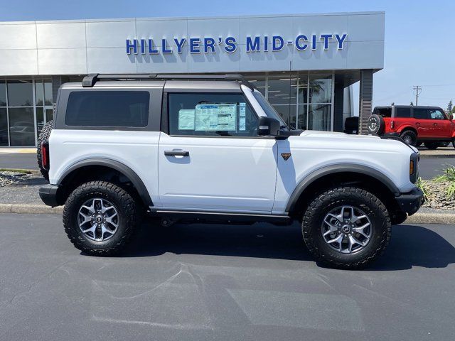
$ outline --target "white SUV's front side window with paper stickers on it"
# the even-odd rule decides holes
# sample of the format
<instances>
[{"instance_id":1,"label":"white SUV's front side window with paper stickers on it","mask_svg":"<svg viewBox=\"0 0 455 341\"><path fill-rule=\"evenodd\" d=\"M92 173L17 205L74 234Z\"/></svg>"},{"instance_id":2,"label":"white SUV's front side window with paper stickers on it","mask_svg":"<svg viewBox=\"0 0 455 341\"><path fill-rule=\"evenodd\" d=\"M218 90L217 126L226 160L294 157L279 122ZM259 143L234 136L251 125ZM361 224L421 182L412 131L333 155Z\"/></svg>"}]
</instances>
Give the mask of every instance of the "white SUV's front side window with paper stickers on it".
<instances>
[{"instance_id":1,"label":"white SUV's front side window with paper stickers on it","mask_svg":"<svg viewBox=\"0 0 455 341\"><path fill-rule=\"evenodd\" d=\"M257 136L258 119L242 94L168 94L169 134Z\"/></svg>"}]
</instances>

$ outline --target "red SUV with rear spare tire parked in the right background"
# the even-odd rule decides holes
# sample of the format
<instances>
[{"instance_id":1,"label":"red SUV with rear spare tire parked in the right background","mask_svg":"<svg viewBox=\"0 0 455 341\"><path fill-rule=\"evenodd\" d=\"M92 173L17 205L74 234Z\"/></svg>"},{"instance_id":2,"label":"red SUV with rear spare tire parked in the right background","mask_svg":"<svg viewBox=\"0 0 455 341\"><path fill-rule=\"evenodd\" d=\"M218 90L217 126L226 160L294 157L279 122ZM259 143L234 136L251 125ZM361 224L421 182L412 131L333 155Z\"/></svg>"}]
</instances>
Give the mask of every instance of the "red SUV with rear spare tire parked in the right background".
<instances>
[{"instance_id":1,"label":"red SUV with rear spare tire parked in the right background","mask_svg":"<svg viewBox=\"0 0 455 341\"><path fill-rule=\"evenodd\" d=\"M392 105L375 107L368 119L368 132L375 135L400 136L411 146L436 149L444 142L455 148L455 122L439 107Z\"/></svg>"}]
</instances>

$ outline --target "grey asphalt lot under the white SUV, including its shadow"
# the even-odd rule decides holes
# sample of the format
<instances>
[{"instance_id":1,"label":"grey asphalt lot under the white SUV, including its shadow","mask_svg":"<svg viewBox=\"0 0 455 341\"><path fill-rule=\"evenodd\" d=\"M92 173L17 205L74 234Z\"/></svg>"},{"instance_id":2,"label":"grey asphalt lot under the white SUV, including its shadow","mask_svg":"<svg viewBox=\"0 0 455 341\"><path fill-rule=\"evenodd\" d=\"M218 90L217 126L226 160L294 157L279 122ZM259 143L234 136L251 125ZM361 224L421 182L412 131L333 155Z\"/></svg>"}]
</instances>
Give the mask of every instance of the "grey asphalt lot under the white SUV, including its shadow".
<instances>
[{"instance_id":1,"label":"grey asphalt lot under the white SUV, including its shadow","mask_svg":"<svg viewBox=\"0 0 455 341\"><path fill-rule=\"evenodd\" d=\"M0 215L0 340L453 340L455 227L400 225L364 271L326 269L299 226L144 226L80 254L60 215Z\"/></svg>"}]
</instances>

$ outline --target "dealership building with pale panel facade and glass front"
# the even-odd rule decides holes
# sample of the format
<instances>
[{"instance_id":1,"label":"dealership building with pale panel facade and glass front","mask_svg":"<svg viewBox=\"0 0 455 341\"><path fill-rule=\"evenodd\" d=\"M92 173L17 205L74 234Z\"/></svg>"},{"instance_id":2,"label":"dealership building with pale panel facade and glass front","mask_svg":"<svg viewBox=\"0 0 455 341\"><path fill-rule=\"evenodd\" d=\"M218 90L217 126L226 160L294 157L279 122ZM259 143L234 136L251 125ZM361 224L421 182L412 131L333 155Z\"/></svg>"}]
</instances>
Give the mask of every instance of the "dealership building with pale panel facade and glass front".
<instances>
[{"instance_id":1,"label":"dealership building with pale panel facade and glass front","mask_svg":"<svg viewBox=\"0 0 455 341\"><path fill-rule=\"evenodd\" d=\"M88 73L240 73L299 129L343 131L358 101L365 133L384 22L384 12L0 22L0 146L35 146L58 87Z\"/></svg>"}]
</instances>

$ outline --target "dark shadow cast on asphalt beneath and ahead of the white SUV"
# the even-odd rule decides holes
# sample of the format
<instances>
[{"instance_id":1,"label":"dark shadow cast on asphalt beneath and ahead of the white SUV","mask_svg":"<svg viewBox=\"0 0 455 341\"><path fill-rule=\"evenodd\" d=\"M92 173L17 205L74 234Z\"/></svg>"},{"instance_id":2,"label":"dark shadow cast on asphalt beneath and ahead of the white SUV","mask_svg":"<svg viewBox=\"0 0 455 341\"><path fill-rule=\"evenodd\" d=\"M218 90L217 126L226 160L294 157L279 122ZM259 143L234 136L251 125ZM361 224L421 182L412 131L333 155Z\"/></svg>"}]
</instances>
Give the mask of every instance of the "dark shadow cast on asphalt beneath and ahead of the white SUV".
<instances>
[{"instance_id":1,"label":"dark shadow cast on asphalt beneath and ahead of the white SUV","mask_svg":"<svg viewBox=\"0 0 455 341\"><path fill-rule=\"evenodd\" d=\"M299 224L176 224L161 227L144 224L141 232L121 256L146 257L174 254L207 254L271 259L314 261L304 246ZM425 227L392 227L385 254L367 271L395 271L412 266L444 268L455 263L455 248L437 232ZM323 264L318 266L326 267Z\"/></svg>"}]
</instances>

